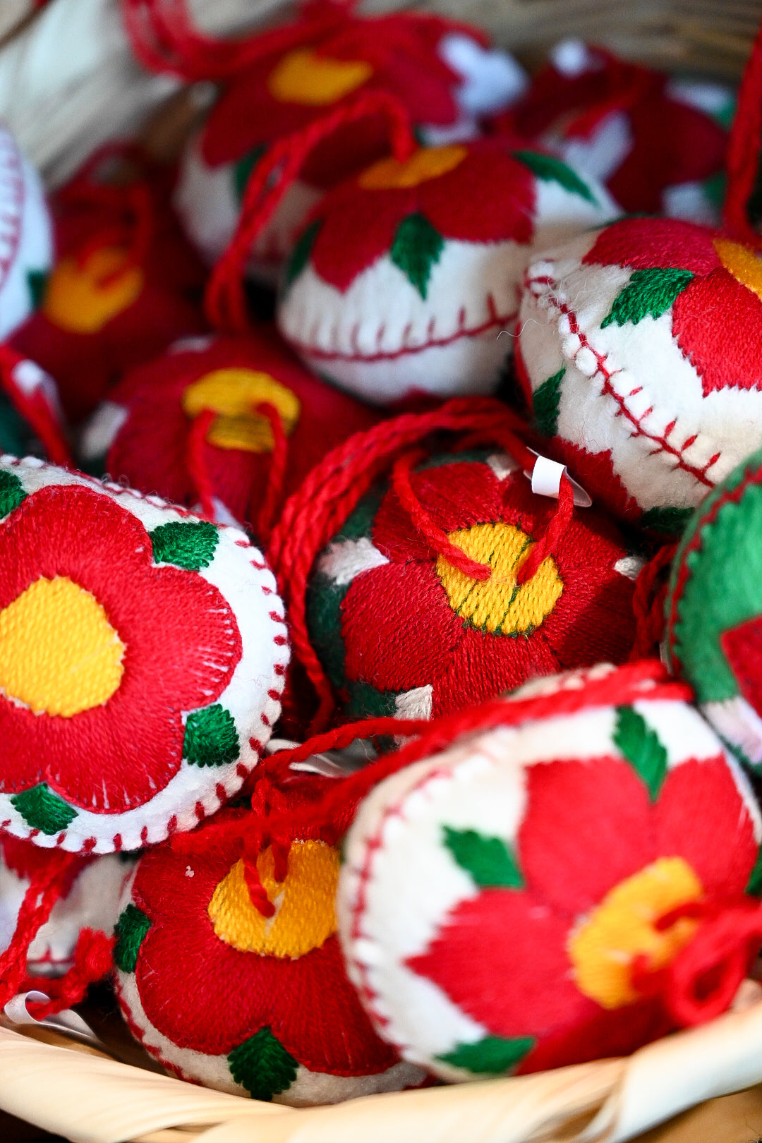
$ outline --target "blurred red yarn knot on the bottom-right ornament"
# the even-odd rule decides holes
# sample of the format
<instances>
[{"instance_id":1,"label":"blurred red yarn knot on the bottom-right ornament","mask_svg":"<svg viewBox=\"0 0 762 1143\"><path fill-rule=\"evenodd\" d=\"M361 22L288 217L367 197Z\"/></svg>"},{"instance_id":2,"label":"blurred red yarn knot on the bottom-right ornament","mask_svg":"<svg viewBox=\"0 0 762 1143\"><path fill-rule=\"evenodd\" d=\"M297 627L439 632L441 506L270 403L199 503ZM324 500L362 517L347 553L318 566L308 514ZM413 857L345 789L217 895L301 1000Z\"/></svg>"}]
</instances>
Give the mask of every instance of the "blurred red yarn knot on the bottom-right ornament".
<instances>
[{"instance_id":1,"label":"blurred red yarn knot on the bottom-right ornament","mask_svg":"<svg viewBox=\"0 0 762 1143\"><path fill-rule=\"evenodd\" d=\"M636 958L632 981L641 994L660 996L677 1025L691 1028L730 1007L762 946L762 903L748 897L689 902L655 927L664 932L683 918L699 922L690 942L656 972L649 972L647 957Z\"/></svg>"}]
</instances>

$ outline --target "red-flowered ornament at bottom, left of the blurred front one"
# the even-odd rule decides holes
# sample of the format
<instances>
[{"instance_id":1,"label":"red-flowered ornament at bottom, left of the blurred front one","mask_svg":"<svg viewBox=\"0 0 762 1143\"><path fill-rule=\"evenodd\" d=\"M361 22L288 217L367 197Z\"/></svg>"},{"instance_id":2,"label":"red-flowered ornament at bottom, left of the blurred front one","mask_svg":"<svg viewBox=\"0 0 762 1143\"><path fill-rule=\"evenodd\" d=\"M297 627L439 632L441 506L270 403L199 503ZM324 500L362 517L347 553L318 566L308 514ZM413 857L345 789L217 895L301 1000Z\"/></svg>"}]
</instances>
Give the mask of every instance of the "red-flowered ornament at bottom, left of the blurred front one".
<instances>
[{"instance_id":1,"label":"red-flowered ornament at bottom, left of the blurred front one","mask_svg":"<svg viewBox=\"0 0 762 1143\"><path fill-rule=\"evenodd\" d=\"M420 1084L346 978L337 849L310 838L267 848L254 881L240 850L212 837L202 852L162 847L141 861L115 949L133 1034L181 1078L256 1100L336 1103ZM265 892L265 914L251 884Z\"/></svg>"}]
</instances>

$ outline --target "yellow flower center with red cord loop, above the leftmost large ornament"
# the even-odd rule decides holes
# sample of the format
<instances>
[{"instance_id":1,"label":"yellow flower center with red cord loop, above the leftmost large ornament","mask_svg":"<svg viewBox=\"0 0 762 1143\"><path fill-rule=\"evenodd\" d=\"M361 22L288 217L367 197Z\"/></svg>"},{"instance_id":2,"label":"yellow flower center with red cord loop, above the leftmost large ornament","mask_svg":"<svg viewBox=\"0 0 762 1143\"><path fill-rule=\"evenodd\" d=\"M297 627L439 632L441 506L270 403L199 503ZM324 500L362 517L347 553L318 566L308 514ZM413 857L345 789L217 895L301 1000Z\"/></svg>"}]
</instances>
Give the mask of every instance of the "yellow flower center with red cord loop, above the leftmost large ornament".
<instances>
[{"instance_id":1,"label":"yellow flower center with red cord loop, above the leftmost large ornament","mask_svg":"<svg viewBox=\"0 0 762 1143\"><path fill-rule=\"evenodd\" d=\"M262 401L275 407L287 435L294 432L300 411L298 398L268 373L215 369L183 393L183 408L190 417L196 417L203 409L218 414L207 438L210 445L244 453L273 450L272 425L256 411Z\"/></svg>"}]
</instances>

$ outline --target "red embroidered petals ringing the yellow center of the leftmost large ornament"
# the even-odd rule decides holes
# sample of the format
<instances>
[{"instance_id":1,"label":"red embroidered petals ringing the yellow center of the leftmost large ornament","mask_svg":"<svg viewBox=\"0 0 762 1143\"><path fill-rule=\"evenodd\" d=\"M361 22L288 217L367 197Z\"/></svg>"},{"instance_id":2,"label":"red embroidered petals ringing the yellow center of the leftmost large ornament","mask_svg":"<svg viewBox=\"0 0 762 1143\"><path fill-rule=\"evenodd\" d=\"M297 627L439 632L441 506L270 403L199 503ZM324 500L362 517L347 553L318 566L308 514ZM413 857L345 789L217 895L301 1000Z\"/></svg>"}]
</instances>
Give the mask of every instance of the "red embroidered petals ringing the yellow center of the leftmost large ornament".
<instances>
[{"instance_id":1,"label":"red embroidered petals ringing the yellow center of the leftmost large ornament","mask_svg":"<svg viewBox=\"0 0 762 1143\"><path fill-rule=\"evenodd\" d=\"M0 694L0 790L45 782L111 814L149 801L181 767L183 712L214 703L241 657L228 604L194 572L158 567L142 522L80 486L43 487L10 512L0 568L0 615L35 583L69 581L123 645L118 686L98 705L62 716Z\"/></svg>"}]
</instances>

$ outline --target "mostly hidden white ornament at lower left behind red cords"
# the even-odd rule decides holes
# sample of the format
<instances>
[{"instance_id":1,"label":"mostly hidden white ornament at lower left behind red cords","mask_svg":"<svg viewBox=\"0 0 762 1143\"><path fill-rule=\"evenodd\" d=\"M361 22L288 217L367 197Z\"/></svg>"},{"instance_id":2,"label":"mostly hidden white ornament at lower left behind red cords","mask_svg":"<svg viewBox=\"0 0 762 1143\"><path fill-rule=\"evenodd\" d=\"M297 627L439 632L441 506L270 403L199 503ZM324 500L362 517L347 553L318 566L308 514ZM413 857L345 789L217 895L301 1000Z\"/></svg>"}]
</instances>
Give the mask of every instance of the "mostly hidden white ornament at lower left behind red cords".
<instances>
[{"instance_id":1,"label":"mostly hidden white ornament at lower left behind red cords","mask_svg":"<svg viewBox=\"0 0 762 1143\"><path fill-rule=\"evenodd\" d=\"M34 873L49 862L49 852L33 841L0 834L0 951L7 948L24 894ZM127 854L78 857L70 882L27 954L29 973L61 976L74 964L83 928L111 934L119 916L119 897L134 858Z\"/></svg>"}]
</instances>

